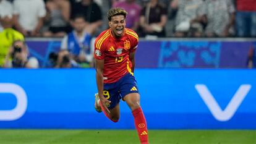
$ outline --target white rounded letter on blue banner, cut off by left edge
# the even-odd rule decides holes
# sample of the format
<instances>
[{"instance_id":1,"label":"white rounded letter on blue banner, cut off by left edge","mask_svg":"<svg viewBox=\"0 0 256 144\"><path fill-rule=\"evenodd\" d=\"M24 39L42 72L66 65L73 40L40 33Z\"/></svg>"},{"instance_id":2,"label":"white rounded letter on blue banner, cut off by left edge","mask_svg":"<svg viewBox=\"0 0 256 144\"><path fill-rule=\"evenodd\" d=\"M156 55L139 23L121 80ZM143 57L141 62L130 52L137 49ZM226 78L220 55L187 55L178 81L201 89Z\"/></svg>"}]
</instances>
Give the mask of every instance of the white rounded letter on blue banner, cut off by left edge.
<instances>
[{"instance_id":1,"label":"white rounded letter on blue banner, cut off by left edge","mask_svg":"<svg viewBox=\"0 0 256 144\"><path fill-rule=\"evenodd\" d=\"M17 98L14 109L0 110L0 121L14 121L22 117L27 110L27 95L23 88L14 83L0 83L0 93L11 93Z\"/></svg>"}]
</instances>

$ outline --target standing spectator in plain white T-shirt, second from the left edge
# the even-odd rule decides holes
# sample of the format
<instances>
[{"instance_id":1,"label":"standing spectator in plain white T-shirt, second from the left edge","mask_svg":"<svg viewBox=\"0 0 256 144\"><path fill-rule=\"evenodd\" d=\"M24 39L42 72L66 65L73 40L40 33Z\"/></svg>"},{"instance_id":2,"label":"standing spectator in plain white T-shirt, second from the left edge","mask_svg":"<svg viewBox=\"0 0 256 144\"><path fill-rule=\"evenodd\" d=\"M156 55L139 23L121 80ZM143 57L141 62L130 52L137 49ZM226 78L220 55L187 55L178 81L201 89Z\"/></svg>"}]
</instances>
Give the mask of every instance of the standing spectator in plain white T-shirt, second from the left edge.
<instances>
[{"instance_id":1,"label":"standing spectator in plain white T-shirt, second from the left edge","mask_svg":"<svg viewBox=\"0 0 256 144\"><path fill-rule=\"evenodd\" d=\"M40 36L43 18L46 15L43 0L15 0L15 28L25 36Z\"/></svg>"}]
</instances>

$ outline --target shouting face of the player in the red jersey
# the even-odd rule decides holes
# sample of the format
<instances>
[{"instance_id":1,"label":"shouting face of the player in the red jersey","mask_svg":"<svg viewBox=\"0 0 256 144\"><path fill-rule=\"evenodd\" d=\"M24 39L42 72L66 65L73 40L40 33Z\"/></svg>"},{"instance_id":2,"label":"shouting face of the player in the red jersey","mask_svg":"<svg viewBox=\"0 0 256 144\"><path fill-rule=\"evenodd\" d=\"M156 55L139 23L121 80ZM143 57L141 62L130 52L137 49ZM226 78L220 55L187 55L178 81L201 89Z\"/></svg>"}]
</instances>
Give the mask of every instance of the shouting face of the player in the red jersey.
<instances>
[{"instance_id":1,"label":"shouting face of the player in the red jersey","mask_svg":"<svg viewBox=\"0 0 256 144\"><path fill-rule=\"evenodd\" d=\"M124 35L124 28L126 27L126 19L124 18L124 15L115 15L111 17L109 27L116 38L120 38Z\"/></svg>"}]
</instances>

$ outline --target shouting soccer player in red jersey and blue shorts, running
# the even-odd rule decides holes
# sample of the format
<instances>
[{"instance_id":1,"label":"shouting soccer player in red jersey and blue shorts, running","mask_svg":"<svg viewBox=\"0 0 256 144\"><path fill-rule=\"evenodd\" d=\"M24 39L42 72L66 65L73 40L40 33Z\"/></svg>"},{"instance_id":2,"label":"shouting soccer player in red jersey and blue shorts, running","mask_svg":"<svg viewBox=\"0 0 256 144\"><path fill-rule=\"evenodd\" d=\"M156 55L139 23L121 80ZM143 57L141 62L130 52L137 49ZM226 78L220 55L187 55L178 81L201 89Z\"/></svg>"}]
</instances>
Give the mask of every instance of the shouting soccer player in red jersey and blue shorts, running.
<instances>
[{"instance_id":1,"label":"shouting soccer player in red jersey and blue shorts, running","mask_svg":"<svg viewBox=\"0 0 256 144\"><path fill-rule=\"evenodd\" d=\"M140 143L148 144L147 123L140 108L140 95L134 77L138 35L126 28L127 12L121 8L108 11L109 29L95 40L96 83L95 109L111 121L120 117L119 101L126 101L134 116Z\"/></svg>"}]
</instances>

